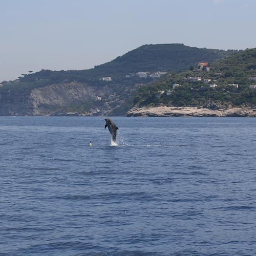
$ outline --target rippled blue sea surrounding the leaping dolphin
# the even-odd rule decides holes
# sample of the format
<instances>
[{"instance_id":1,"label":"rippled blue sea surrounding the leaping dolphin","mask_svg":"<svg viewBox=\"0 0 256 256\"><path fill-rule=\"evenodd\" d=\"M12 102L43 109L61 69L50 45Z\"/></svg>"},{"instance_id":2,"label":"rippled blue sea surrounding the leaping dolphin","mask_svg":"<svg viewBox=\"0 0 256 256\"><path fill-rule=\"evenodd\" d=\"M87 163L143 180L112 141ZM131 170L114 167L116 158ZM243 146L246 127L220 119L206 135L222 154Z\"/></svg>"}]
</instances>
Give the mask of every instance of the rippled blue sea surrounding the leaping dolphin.
<instances>
[{"instance_id":1,"label":"rippled blue sea surrounding the leaping dolphin","mask_svg":"<svg viewBox=\"0 0 256 256\"><path fill-rule=\"evenodd\" d=\"M256 118L110 118L0 117L1 256L256 255Z\"/></svg>"}]
</instances>

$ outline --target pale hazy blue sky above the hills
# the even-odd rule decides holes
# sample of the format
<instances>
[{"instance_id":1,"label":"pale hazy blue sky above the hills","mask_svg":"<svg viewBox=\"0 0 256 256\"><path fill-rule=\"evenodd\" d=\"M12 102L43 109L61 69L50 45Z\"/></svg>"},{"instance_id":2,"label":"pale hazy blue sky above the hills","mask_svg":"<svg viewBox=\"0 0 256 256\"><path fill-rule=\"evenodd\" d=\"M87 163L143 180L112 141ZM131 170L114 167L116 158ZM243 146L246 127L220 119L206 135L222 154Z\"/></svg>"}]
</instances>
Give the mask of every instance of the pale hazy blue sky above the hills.
<instances>
[{"instance_id":1,"label":"pale hazy blue sky above the hills","mask_svg":"<svg viewBox=\"0 0 256 256\"><path fill-rule=\"evenodd\" d=\"M256 0L0 0L0 82L93 68L145 44L256 47Z\"/></svg>"}]
</instances>

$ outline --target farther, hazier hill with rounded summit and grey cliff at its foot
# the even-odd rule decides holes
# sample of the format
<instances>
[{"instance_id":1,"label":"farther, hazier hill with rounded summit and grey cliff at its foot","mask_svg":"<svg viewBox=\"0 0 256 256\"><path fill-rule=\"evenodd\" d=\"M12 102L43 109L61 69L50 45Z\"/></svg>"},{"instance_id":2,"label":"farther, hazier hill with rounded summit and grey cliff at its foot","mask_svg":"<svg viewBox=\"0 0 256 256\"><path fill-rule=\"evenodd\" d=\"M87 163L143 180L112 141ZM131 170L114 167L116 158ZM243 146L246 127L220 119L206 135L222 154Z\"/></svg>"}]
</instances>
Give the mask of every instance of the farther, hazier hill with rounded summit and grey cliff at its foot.
<instances>
[{"instance_id":1,"label":"farther, hazier hill with rounded summit and grey cliff at its foot","mask_svg":"<svg viewBox=\"0 0 256 256\"><path fill-rule=\"evenodd\" d=\"M145 45L90 70L29 72L1 83L0 115L124 115L139 87L167 72L233 53L183 44ZM39 92L40 97L34 97Z\"/></svg>"}]
</instances>

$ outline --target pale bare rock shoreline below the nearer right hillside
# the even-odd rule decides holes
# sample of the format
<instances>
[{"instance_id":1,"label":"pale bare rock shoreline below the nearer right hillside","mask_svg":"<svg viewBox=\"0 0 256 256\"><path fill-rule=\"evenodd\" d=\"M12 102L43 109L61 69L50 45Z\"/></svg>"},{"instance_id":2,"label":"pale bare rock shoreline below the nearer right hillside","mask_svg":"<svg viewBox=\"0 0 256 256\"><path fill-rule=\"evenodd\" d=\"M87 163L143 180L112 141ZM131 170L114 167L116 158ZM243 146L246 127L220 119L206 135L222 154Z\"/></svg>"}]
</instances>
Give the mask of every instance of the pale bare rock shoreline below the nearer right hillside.
<instances>
[{"instance_id":1,"label":"pale bare rock shoreline below the nearer right hillside","mask_svg":"<svg viewBox=\"0 0 256 256\"><path fill-rule=\"evenodd\" d=\"M256 117L256 109L232 108L226 110L210 110L205 108L191 108L179 106L156 106L134 108L126 116L208 116L208 117Z\"/></svg>"}]
</instances>

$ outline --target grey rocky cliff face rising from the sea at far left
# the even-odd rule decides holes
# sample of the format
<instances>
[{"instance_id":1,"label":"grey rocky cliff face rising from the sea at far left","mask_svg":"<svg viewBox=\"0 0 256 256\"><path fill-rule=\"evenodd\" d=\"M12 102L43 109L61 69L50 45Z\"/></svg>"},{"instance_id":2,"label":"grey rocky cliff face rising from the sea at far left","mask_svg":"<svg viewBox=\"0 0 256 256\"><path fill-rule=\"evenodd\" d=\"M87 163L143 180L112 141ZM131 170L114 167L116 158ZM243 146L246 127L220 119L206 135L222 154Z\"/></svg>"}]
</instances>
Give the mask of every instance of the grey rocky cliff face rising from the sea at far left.
<instances>
[{"instance_id":1,"label":"grey rocky cliff face rising from the sea at far left","mask_svg":"<svg viewBox=\"0 0 256 256\"><path fill-rule=\"evenodd\" d=\"M0 115L47 116L63 108L94 102L110 93L108 88L97 88L78 82L53 84L33 89L22 95L1 95ZM90 111L89 111L90 112Z\"/></svg>"}]
</instances>

